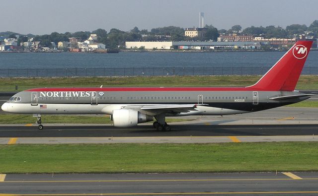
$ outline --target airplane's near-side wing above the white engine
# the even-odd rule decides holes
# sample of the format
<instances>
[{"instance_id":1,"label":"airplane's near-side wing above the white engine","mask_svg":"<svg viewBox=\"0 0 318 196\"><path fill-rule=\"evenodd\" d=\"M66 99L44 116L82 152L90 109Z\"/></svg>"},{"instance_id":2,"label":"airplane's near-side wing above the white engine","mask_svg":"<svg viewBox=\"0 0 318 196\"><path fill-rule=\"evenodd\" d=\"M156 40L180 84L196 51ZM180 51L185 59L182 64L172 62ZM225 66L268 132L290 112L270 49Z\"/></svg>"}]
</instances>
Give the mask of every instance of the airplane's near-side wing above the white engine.
<instances>
[{"instance_id":1,"label":"airplane's near-side wing above the white engine","mask_svg":"<svg viewBox=\"0 0 318 196\"><path fill-rule=\"evenodd\" d=\"M160 114L160 113L166 113L166 112L181 113L181 112L196 111L197 105L198 104L128 105L128 106L124 106L123 108L139 110L141 112L143 111L151 112L153 114Z\"/></svg>"}]
</instances>

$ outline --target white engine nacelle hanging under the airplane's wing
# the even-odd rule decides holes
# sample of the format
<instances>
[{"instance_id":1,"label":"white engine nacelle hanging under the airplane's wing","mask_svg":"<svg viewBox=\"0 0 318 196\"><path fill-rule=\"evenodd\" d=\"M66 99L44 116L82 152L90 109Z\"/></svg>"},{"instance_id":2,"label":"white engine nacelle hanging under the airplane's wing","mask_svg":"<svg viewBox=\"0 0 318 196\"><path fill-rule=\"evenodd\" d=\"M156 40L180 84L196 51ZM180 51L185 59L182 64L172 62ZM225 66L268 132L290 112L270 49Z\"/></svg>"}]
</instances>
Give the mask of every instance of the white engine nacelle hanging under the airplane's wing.
<instances>
[{"instance_id":1,"label":"white engine nacelle hanging under the airplane's wing","mask_svg":"<svg viewBox=\"0 0 318 196\"><path fill-rule=\"evenodd\" d=\"M113 110L113 122L115 127L134 127L138 123L153 121L154 117L140 113L136 110L119 109Z\"/></svg>"}]
</instances>

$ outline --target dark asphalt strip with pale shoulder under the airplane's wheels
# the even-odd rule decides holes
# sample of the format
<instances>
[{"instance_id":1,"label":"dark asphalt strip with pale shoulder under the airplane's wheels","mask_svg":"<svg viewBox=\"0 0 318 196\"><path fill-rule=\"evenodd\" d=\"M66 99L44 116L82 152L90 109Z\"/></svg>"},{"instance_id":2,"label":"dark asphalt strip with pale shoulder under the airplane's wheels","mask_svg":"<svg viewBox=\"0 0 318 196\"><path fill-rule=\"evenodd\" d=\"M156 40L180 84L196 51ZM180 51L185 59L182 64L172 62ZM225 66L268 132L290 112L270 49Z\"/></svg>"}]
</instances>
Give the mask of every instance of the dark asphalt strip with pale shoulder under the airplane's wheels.
<instances>
[{"instance_id":1,"label":"dark asphalt strip with pale shoulder under the airplane's wheels","mask_svg":"<svg viewBox=\"0 0 318 196\"><path fill-rule=\"evenodd\" d=\"M152 126L120 129L111 126L0 127L0 144L14 143L215 143L318 141L318 125L174 125L169 132Z\"/></svg>"}]
</instances>

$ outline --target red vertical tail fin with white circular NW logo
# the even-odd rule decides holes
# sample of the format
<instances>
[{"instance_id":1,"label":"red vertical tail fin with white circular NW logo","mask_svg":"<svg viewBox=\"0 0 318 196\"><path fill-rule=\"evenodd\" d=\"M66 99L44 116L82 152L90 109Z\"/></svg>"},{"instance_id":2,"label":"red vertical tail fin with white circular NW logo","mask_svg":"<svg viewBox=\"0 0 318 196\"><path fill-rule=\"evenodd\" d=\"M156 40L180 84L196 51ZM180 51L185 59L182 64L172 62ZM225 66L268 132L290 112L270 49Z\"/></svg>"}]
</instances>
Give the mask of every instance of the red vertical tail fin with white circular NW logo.
<instances>
[{"instance_id":1,"label":"red vertical tail fin with white circular NW logo","mask_svg":"<svg viewBox=\"0 0 318 196\"><path fill-rule=\"evenodd\" d=\"M308 57L312 41L298 41L254 85L264 90L293 91Z\"/></svg>"}]
</instances>

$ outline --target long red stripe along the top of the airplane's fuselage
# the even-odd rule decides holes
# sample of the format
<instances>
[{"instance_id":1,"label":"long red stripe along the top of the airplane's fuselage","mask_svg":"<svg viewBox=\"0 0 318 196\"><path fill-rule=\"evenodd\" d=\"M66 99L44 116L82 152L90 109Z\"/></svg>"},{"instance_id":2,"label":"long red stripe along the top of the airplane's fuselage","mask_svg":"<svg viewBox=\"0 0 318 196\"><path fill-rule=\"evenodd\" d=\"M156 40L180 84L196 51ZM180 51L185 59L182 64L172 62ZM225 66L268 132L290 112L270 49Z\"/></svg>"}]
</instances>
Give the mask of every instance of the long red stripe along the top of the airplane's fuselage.
<instances>
[{"instance_id":1,"label":"long red stripe along the top of the airplane's fuselage","mask_svg":"<svg viewBox=\"0 0 318 196\"><path fill-rule=\"evenodd\" d=\"M26 91L257 91L250 87L73 87L73 88L34 88ZM264 91L264 89L262 89Z\"/></svg>"}]
</instances>

